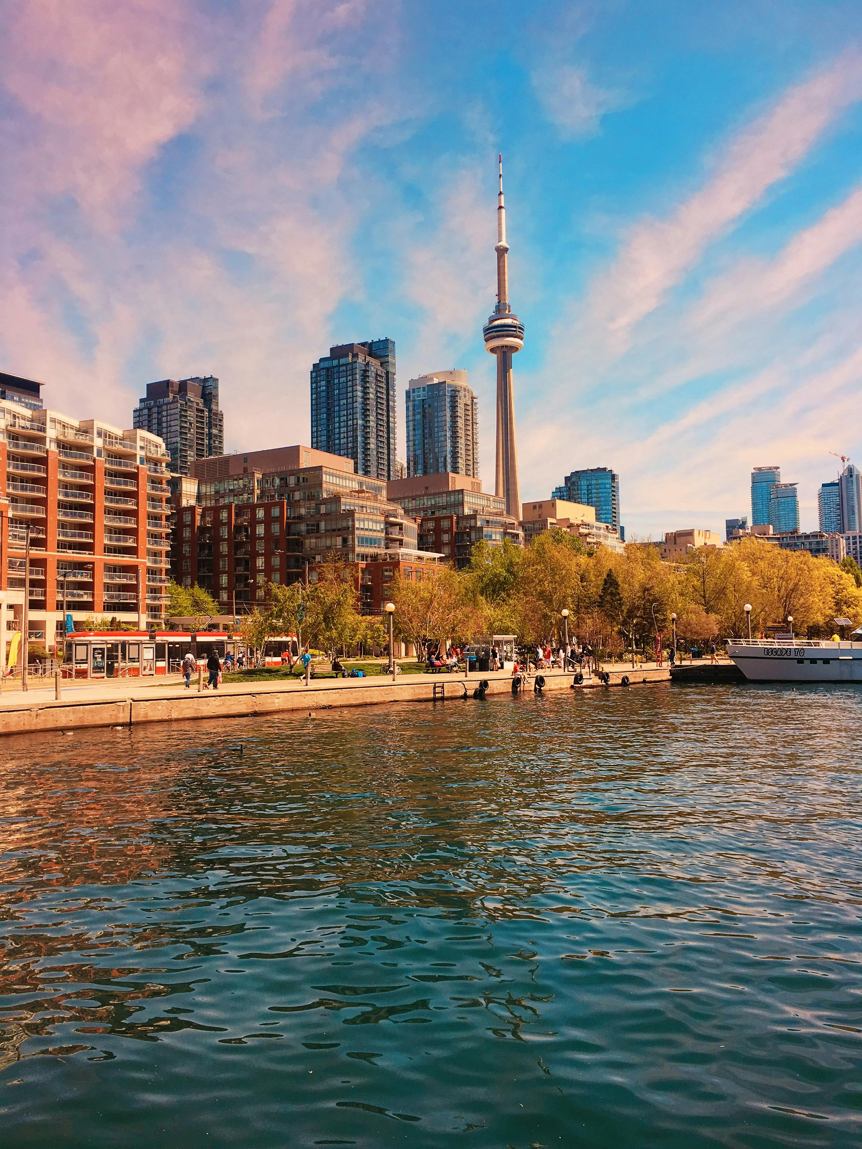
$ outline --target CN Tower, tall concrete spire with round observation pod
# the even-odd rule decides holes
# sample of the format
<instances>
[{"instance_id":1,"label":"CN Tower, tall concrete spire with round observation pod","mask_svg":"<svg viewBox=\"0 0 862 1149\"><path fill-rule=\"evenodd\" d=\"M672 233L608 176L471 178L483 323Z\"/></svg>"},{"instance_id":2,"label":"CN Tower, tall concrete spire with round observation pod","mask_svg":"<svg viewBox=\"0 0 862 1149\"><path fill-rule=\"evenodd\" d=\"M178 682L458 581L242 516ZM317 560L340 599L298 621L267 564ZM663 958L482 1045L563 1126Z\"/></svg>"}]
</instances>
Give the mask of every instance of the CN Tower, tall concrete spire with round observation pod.
<instances>
[{"instance_id":1,"label":"CN Tower, tall concrete spire with round observation pod","mask_svg":"<svg viewBox=\"0 0 862 1149\"><path fill-rule=\"evenodd\" d=\"M524 346L524 325L509 308L509 245L506 242L506 208L502 198L502 156L500 191L497 198L497 306L482 330L485 350L497 355L497 481L494 493L506 500L506 514L521 518L518 456L515 446L515 400L511 385L511 356Z\"/></svg>"}]
</instances>

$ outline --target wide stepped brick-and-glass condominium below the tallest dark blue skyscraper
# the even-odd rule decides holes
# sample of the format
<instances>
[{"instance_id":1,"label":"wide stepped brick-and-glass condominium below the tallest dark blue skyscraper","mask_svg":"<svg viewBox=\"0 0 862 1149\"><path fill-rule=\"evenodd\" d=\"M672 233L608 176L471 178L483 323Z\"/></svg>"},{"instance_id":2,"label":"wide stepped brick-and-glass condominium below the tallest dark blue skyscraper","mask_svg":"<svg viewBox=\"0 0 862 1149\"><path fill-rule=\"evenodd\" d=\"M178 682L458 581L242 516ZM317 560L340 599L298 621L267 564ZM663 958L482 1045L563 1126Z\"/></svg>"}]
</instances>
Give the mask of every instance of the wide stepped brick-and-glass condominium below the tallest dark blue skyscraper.
<instances>
[{"instance_id":1,"label":"wide stepped brick-and-glass condominium below the tallest dark blue skyscraper","mask_svg":"<svg viewBox=\"0 0 862 1149\"><path fill-rule=\"evenodd\" d=\"M309 448L277 450L290 464ZM386 556L391 565L393 555L436 564L438 556L418 554L416 523L386 498L386 484L355 475L351 460L262 470L254 454L225 456L248 458L246 470L199 479L198 506L177 512L176 577L225 610L265 601L268 584L294 583L330 555L361 565ZM208 460L200 469L220 466Z\"/></svg>"}]
</instances>

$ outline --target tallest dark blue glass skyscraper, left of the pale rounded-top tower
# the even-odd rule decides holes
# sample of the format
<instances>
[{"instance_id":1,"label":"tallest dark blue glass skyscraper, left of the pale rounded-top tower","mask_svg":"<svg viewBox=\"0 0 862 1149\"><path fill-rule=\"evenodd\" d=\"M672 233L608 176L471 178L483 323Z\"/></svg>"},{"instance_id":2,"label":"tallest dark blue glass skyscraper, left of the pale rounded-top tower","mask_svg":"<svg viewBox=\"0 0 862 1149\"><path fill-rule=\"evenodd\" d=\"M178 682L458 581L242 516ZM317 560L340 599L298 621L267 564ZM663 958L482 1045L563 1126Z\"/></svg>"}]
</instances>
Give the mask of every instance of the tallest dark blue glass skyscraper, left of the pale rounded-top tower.
<instances>
[{"instance_id":1,"label":"tallest dark blue glass skyscraper, left of the pale rounded-top tower","mask_svg":"<svg viewBox=\"0 0 862 1149\"><path fill-rule=\"evenodd\" d=\"M395 344L330 347L311 368L311 446L352 458L357 475L395 477Z\"/></svg>"}]
</instances>

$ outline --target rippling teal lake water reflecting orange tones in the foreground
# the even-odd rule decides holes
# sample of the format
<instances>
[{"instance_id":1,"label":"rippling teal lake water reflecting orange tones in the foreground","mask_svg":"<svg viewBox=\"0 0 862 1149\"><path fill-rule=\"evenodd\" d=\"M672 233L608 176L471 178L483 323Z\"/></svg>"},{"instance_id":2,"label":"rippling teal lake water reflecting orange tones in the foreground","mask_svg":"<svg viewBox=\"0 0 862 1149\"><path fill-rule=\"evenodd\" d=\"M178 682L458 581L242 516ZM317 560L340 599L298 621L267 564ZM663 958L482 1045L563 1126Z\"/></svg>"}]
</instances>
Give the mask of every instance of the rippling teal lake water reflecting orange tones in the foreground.
<instances>
[{"instance_id":1,"label":"rippling teal lake water reflecting orange tones in the foreground","mask_svg":"<svg viewBox=\"0 0 862 1149\"><path fill-rule=\"evenodd\" d=\"M657 686L7 739L0 1143L862 1144L861 731Z\"/></svg>"}]
</instances>

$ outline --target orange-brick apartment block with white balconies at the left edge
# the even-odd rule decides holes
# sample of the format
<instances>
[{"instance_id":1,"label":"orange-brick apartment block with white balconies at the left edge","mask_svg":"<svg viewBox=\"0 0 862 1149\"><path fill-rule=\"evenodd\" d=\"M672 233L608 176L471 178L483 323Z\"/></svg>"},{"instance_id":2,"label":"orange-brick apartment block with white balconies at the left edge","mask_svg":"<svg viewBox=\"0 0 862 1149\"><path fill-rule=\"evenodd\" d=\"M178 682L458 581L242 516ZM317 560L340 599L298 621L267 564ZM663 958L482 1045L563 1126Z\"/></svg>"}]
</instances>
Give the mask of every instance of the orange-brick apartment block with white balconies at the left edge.
<instances>
[{"instance_id":1,"label":"orange-brick apartment block with white balconies at the left edge","mask_svg":"<svg viewBox=\"0 0 862 1149\"><path fill-rule=\"evenodd\" d=\"M8 377L7 377L8 379ZM0 399L0 634L28 615L28 635L53 650L64 615L163 625L168 454L157 435L34 406L38 383ZM29 550L29 563L26 554Z\"/></svg>"}]
</instances>

